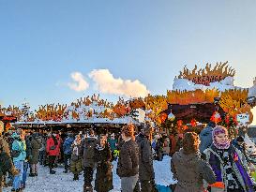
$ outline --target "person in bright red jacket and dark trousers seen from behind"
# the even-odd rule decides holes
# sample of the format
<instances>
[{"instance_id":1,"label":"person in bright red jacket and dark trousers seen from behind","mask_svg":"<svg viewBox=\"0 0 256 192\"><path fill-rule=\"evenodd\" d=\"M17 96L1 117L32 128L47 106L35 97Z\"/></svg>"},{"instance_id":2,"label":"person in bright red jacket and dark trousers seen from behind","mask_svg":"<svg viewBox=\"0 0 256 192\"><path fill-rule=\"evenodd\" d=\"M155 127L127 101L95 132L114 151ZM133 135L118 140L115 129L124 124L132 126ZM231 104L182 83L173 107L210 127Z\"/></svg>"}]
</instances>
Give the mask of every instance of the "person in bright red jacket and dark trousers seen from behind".
<instances>
[{"instance_id":1,"label":"person in bright red jacket and dark trousers seen from behind","mask_svg":"<svg viewBox=\"0 0 256 192\"><path fill-rule=\"evenodd\" d=\"M53 170L56 156L60 154L60 142L55 138L55 134L51 134L50 138L46 141L46 153L49 156L50 174L55 174Z\"/></svg>"}]
</instances>

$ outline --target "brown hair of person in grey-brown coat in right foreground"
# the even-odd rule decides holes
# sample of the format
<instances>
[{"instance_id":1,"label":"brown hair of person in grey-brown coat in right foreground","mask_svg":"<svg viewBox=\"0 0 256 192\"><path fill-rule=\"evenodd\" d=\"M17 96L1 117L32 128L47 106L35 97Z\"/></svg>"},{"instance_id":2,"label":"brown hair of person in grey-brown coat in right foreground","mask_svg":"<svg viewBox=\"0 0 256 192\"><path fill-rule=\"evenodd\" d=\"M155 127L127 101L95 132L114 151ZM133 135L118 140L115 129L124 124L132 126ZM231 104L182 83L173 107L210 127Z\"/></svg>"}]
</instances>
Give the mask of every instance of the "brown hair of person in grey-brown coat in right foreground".
<instances>
[{"instance_id":1,"label":"brown hair of person in grey-brown coat in right foreground","mask_svg":"<svg viewBox=\"0 0 256 192\"><path fill-rule=\"evenodd\" d=\"M183 139L183 150L185 154L193 154L198 152L199 137L195 132L185 133Z\"/></svg>"}]
</instances>

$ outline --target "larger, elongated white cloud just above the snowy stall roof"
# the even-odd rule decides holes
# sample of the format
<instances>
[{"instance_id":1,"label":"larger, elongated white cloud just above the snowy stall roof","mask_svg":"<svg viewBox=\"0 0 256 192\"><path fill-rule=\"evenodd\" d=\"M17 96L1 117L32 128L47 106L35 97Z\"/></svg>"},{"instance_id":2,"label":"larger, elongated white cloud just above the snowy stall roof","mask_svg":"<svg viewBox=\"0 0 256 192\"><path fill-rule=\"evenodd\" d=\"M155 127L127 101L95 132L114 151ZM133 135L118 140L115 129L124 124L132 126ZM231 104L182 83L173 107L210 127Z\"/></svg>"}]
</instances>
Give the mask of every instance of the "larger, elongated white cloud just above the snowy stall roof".
<instances>
[{"instance_id":1,"label":"larger, elongated white cloud just above the snowy stall roof","mask_svg":"<svg viewBox=\"0 0 256 192\"><path fill-rule=\"evenodd\" d=\"M95 69L89 73L89 77L96 82L97 89L104 94L132 97L149 94L146 86L141 81L116 79L108 69Z\"/></svg>"}]
</instances>

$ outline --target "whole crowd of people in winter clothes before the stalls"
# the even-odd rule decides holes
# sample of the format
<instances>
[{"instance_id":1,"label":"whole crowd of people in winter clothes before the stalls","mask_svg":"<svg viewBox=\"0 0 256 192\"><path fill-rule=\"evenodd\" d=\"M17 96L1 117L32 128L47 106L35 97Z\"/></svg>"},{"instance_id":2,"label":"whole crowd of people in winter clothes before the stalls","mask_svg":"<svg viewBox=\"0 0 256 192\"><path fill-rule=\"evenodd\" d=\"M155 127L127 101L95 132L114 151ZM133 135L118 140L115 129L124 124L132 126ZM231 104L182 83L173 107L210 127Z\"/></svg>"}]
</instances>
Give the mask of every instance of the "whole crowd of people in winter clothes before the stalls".
<instances>
[{"instance_id":1,"label":"whole crowd of people in winter clothes before the stalls","mask_svg":"<svg viewBox=\"0 0 256 192\"><path fill-rule=\"evenodd\" d=\"M157 192L153 160L172 155L171 171L177 180L170 185L174 192L252 192L250 171L254 166L246 153L243 137L229 140L223 126L209 123L197 135L187 132L173 136L157 133L145 125L135 133L134 125L123 126L120 135L86 132L4 132L0 126L0 192L11 185L11 191L23 191L26 177L38 176L38 164L55 174L63 162L64 173L72 172L79 180L83 172L83 192L108 192L113 189L113 161L121 178L122 192ZM96 177L94 181L94 172ZM94 187L93 187L94 182Z\"/></svg>"}]
</instances>

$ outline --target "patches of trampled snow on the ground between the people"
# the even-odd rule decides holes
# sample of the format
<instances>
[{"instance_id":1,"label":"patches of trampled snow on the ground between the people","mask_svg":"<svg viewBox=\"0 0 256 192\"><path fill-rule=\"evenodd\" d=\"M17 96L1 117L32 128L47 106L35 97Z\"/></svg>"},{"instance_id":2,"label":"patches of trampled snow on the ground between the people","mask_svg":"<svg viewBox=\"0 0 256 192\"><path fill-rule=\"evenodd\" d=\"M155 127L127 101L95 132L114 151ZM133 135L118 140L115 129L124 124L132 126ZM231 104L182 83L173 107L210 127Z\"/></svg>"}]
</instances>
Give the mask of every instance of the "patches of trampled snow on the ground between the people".
<instances>
[{"instance_id":1,"label":"patches of trampled snow on the ground between the people","mask_svg":"<svg viewBox=\"0 0 256 192\"><path fill-rule=\"evenodd\" d=\"M170 165L171 158L164 156L163 161L154 161L154 170L156 183L160 185L173 184L173 174ZM121 182L116 175L116 162L113 162L113 190L120 192ZM26 188L24 192L82 192L83 175L80 175L79 181L73 181L73 174L63 172L64 168L56 168L56 174L50 175L49 168L40 166L38 177L27 177ZM93 182L94 183L94 182ZM11 187L4 188L4 192L9 192Z\"/></svg>"}]
</instances>

